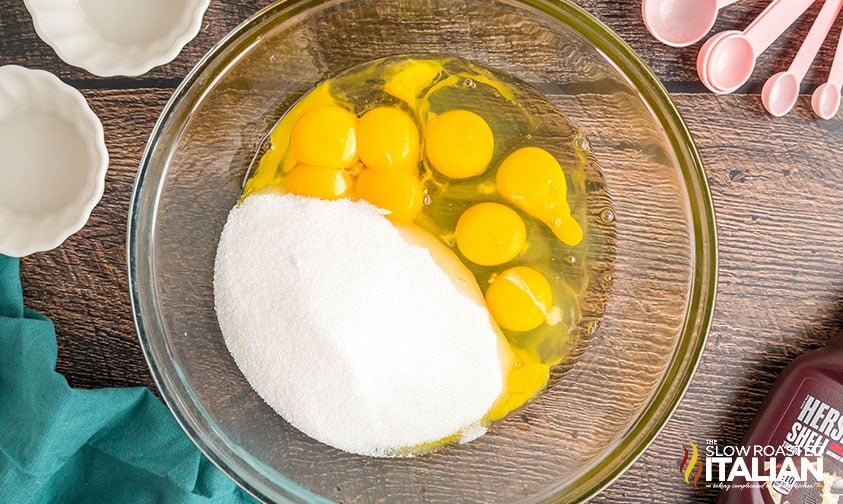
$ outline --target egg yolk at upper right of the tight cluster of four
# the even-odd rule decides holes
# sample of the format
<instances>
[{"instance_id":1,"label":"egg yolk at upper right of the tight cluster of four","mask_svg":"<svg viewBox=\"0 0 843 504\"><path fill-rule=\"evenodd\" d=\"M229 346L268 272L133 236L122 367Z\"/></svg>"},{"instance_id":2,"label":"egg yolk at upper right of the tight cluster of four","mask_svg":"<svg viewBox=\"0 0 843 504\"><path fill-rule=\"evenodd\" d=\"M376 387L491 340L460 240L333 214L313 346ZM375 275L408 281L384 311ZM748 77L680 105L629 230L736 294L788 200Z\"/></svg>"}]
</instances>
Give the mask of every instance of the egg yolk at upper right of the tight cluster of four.
<instances>
[{"instance_id":1,"label":"egg yolk at upper right of the tight cluster of four","mask_svg":"<svg viewBox=\"0 0 843 504\"><path fill-rule=\"evenodd\" d=\"M413 118L395 107L377 107L357 123L357 151L368 168L418 174L419 130Z\"/></svg>"}]
</instances>

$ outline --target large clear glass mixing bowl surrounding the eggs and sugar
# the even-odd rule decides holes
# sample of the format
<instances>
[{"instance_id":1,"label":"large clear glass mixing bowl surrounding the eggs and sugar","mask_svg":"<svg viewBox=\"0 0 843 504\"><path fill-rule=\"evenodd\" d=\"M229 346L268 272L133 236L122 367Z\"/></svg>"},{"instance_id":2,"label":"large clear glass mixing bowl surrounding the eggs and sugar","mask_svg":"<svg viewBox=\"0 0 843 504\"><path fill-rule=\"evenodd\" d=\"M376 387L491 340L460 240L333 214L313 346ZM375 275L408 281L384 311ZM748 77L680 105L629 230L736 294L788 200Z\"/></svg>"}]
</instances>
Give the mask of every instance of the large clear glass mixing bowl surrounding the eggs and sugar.
<instances>
[{"instance_id":1,"label":"large clear glass mixing bowl surrounding the eggs and sugar","mask_svg":"<svg viewBox=\"0 0 843 504\"><path fill-rule=\"evenodd\" d=\"M475 61L541 91L584 133L588 288L568 357L538 398L480 439L412 459L313 441L252 391L213 305L226 215L281 114L346 68L390 54ZM667 93L610 30L547 0L290 0L243 23L187 76L141 162L129 276L152 375L199 448L277 502L571 502L627 468L665 424L702 352L714 214Z\"/></svg>"}]
</instances>

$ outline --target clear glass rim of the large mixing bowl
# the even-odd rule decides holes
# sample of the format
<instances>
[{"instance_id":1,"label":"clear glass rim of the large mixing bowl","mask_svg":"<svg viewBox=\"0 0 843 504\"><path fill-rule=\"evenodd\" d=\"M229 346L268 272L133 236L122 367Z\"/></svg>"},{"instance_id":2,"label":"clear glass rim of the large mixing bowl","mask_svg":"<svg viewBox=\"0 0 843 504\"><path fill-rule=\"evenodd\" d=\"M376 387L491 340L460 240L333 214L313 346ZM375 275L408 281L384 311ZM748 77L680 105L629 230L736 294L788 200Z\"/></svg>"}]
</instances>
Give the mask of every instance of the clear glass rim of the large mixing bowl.
<instances>
[{"instance_id":1,"label":"clear glass rim of the large mixing bowl","mask_svg":"<svg viewBox=\"0 0 843 504\"><path fill-rule=\"evenodd\" d=\"M150 186L147 176L153 152L162 131L173 119L176 109L190 95L199 77L243 33L262 25L267 19L293 14L319 7L332 0L279 0L270 4L238 25L215 44L191 69L165 105L153 128L135 180L128 215L127 264L132 313L144 357L161 396L178 423L196 446L240 487L259 500L279 502L314 502L314 495L295 482L270 479L255 468L256 461L231 443L210 419L199 403L184 375L178 368L166 341L154 339L154 331L163 327L156 307L151 246L158 196L162 177ZM669 420L685 394L699 364L714 313L718 278L718 246L714 205L700 154L679 111L667 90L644 61L618 35L583 8L568 0L504 0L520 6L537 9L578 32L598 49L617 70L640 92L651 112L664 128L666 139L677 154L683 183L688 189L689 220L693 225L693 277L690 286L686 324L679 338L668 368L665 370L657 392L633 427L618 442L607 459L612 460L608 469L597 464L574 483L555 489L543 496L540 502L584 501L594 497L618 478L652 443ZM209 86L212 82L202 83ZM684 163L683 163L684 160ZM154 205L145 208L145 197L152 195ZM146 233L146 234L145 234ZM147 314L147 317L144 317ZM163 332L163 331L162 331ZM163 344L164 347L159 347ZM163 352L163 353L162 353ZM166 360L162 356L168 357ZM667 387L665 384L671 384ZM617 455L614 457L613 455ZM573 487L573 489L572 489ZM566 490L569 491L566 494ZM315 502L330 502L316 498Z\"/></svg>"}]
</instances>

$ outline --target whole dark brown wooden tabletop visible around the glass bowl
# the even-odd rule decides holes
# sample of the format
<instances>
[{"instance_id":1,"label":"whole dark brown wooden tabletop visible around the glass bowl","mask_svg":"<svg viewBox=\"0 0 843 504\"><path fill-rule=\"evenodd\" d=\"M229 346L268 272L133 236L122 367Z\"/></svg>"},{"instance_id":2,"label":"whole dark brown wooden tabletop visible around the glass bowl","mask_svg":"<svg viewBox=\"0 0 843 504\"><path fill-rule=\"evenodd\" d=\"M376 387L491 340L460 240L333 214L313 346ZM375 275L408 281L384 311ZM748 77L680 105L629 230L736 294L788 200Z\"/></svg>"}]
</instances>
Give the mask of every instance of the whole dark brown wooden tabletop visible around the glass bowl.
<instances>
[{"instance_id":1,"label":"whole dark brown wooden tabletop visible around the glass bowl","mask_svg":"<svg viewBox=\"0 0 843 504\"><path fill-rule=\"evenodd\" d=\"M49 70L78 88L105 127L105 195L88 225L61 247L22 260L26 303L58 333L58 371L76 387L154 389L131 318L126 215L146 139L187 71L225 33L269 0L212 0L202 30L172 63L141 77L95 77L61 61L36 35L20 0L0 0L0 65ZM843 17L808 73L796 107L774 118L760 92L785 70L822 1L758 61L728 96L698 81L700 44L652 39L634 0L579 0L618 32L672 94L697 141L716 206L720 280L705 354L676 414L652 446L594 502L713 502L678 476L681 445L735 444L782 368L843 325L843 114L818 120L810 93L829 71ZM746 26L765 0L721 12L715 31Z\"/></svg>"}]
</instances>

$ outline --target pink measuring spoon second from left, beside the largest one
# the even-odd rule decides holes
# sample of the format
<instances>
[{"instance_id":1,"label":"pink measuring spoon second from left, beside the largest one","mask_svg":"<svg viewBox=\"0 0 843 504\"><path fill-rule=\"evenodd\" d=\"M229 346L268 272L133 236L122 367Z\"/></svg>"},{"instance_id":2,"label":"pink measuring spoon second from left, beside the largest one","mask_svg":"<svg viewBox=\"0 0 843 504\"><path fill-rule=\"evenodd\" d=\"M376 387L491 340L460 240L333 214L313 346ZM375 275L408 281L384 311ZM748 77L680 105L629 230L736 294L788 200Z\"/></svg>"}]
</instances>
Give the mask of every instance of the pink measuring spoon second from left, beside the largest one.
<instances>
[{"instance_id":1,"label":"pink measuring spoon second from left, beside the largest one","mask_svg":"<svg viewBox=\"0 0 843 504\"><path fill-rule=\"evenodd\" d=\"M697 73L710 90L731 93L749 80L755 60L815 0L773 0L744 31L711 37L697 55Z\"/></svg>"}]
</instances>

